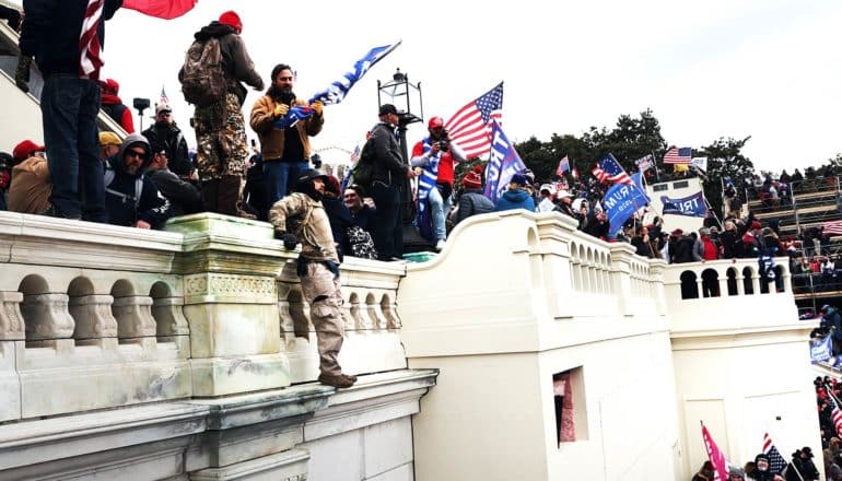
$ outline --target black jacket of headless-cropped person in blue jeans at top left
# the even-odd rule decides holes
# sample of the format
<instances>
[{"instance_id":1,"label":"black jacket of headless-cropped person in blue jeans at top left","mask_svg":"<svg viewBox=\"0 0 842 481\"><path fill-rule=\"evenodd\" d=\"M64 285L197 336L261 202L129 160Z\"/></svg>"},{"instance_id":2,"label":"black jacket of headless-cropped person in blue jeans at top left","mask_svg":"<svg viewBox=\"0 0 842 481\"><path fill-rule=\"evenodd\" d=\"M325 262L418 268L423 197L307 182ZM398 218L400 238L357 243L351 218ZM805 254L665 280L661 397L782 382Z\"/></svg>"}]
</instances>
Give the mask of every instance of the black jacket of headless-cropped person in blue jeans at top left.
<instances>
[{"instance_id":1,"label":"black jacket of headless-cropped person in blue jeans at top left","mask_svg":"<svg viewBox=\"0 0 842 481\"><path fill-rule=\"evenodd\" d=\"M109 20L122 7L122 0L105 0L103 19ZM79 35L87 0L25 0L25 20L21 31L21 54L35 57L38 69L48 79L56 73L79 74ZM97 30L105 46L105 22Z\"/></svg>"}]
</instances>

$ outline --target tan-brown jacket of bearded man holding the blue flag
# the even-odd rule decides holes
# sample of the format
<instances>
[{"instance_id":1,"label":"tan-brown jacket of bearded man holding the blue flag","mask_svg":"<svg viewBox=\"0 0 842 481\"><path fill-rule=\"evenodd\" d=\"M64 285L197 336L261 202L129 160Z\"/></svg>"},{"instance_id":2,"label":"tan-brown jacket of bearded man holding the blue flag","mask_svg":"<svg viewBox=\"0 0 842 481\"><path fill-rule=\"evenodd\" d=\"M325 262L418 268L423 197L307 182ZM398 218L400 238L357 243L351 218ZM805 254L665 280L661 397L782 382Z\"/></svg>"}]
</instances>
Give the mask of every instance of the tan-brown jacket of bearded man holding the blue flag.
<instances>
[{"instance_id":1,"label":"tan-brown jacket of bearded man holding the blue flag","mask_svg":"<svg viewBox=\"0 0 842 481\"><path fill-rule=\"evenodd\" d=\"M306 105L306 102L296 99L295 105ZM249 124L260 139L260 153L264 155L264 162L277 161L283 156L283 129L272 127L272 124L278 120L274 116L274 107L277 106L278 102L274 98L264 95L252 107ZM301 144L304 145L304 159L302 161L309 159L309 138L318 134L324 124L325 117L314 113L306 120L295 125L301 137Z\"/></svg>"}]
</instances>

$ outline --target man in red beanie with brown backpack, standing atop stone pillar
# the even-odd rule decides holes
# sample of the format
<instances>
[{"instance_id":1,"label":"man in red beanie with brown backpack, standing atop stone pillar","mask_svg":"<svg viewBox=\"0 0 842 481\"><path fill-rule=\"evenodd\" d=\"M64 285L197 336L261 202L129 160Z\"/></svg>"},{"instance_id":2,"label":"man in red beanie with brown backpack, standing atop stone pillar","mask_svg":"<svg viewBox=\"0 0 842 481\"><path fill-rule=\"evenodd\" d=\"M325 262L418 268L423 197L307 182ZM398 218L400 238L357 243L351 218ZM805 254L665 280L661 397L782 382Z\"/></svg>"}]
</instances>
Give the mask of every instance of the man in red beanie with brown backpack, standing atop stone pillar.
<instances>
[{"instance_id":1,"label":"man in red beanie with brown backpack, standing atop stone pillar","mask_svg":"<svg viewBox=\"0 0 842 481\"><path fill-rule=\"evenodd\" d=\"M202 27L178 72L185 99L196 106L192 127L198 152L204 209L254 219L243 210L245 164L248 157L241 108L245 82L257 91L264 81L239 37L243 22L233 11Z\"/></svg>"}]
</instances>

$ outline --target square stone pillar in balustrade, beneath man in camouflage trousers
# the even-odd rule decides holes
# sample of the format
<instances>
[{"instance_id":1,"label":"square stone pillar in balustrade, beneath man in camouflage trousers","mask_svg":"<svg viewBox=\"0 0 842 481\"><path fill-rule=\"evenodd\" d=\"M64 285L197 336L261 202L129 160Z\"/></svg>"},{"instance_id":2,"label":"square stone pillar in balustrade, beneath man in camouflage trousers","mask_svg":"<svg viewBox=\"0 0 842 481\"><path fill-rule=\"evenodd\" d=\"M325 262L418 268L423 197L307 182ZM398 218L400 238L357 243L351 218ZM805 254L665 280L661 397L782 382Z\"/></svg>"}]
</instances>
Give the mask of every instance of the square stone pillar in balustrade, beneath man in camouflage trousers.
<instances>
[{"instance_id":1,"label":"square stone pillar in balustrade, beneath man in camouflage trousers","mask_svg":"<svg viewBox=\"0 0 842 481\"><path fill-rule=\"evenodd\" d=\"M174 269L184 275L194 396L289 386L276 277L295 253L282 251L265 222L206 212L165 230L184 234Z\"/></svg>"}]
</instances>

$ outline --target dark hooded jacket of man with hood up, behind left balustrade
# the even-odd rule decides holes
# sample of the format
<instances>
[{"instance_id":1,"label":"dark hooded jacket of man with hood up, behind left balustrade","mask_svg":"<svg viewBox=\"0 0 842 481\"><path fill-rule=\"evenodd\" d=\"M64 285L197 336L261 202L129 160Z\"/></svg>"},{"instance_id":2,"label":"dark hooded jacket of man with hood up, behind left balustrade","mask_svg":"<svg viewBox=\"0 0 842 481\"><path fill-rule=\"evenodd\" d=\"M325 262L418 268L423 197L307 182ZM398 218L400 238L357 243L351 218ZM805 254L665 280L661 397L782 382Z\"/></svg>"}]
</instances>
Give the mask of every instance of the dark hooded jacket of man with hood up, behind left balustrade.
<instances>
[{"instance_id":1,"label":"dark hooded jacket of man with hood up, behind left balustrade","mask_svg":"<svg viewBox=\"0 0 842 481\"><path fill-rule=\"evenodd\" d=\"M147 156L141 168L136 174L129 174L126 172L124 154L135 145L142 146ZM155 184L143 176L143 171L151 162L149 142L139 133L128 136L120 151L106 160L105 210L109 224L133 226L138 221L144 221L153 228L159 228L169 219L169 204L159 193ZM140 199L137 198L138 191Z\"/></svg>"}]
</instances>

